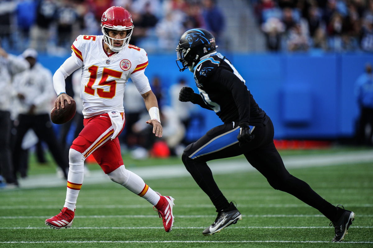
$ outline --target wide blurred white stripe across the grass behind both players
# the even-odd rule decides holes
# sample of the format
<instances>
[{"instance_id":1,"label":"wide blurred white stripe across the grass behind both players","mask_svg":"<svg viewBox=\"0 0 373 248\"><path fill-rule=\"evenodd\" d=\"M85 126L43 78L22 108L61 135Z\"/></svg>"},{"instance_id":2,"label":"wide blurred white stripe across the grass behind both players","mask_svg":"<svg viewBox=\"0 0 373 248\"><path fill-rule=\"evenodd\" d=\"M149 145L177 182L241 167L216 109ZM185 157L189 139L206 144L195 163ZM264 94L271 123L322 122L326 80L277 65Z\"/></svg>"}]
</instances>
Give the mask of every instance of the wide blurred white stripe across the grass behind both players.
<instances>
[{"instance_id":1,"label":"wide blurred white stripe across the grass behind both players","mask_svg":"<svg viewBox=\"0 0 373 248\"><path fill-rule=\"evenodd\" d=\"M362 162L373 163L373 152L354 151L337 154L284 156L283 161L286 168L318 167L336 164L356 164ZM214 174L227 174L255 170L255 168L253 168L245 159L216 160L208 162L208 164ZM188 171L186 171L184 165L182 165L181 163L175 165L129 168L129 170L131 170L135 174L140 175L140 177L142 177L144 180L190 176ZM89 177L85 176L84 178L84 185L109 182L111 182L110 179L101 170L91 171L91 175ZM21 188L49 188L65 185L66 180L57 179L56 174L29 176L25 180L20 180Z\"/></svg>"}]
</instances>

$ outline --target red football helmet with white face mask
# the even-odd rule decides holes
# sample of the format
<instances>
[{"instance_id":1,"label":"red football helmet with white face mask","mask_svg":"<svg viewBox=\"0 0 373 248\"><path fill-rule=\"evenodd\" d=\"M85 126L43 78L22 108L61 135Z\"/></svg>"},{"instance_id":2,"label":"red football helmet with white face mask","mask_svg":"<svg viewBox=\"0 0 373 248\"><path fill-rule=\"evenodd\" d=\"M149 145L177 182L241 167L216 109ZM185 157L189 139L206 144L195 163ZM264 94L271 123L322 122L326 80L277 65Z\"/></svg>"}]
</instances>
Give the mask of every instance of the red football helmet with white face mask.
<instances>
[{"instance_id":1,"label":"red football helmet with white face mask","mask_svg":"<svg viewBox=\"0 0 373 248\"><path fill-rule=\"evenodd\" d=\"M123 41L122 46L114 46L115 39L111 38L108 35L107 29L114 29L119 31L127 30L126 38L116 39ZM119 52L129 44L129 40L131 39L133 30L134 24L132 22L131 14L125 8L113 6L103 13L101 18L101 31L104 34L104 42L113 52Z\"/></svg>"}]
</instances>

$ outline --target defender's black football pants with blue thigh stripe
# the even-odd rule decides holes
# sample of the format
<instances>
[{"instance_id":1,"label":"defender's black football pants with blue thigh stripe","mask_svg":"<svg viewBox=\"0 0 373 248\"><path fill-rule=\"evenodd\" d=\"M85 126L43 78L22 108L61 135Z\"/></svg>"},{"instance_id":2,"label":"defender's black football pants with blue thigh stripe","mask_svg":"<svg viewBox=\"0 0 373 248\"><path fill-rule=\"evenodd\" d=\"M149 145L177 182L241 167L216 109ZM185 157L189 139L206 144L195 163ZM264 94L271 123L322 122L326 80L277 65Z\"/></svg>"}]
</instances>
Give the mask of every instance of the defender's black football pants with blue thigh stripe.
<instances>
[{"instance_id":1,"label":"defender's black football pants with blue thigh stripe","mask_svg":"<svg viewBox=\"0 0 373 248\"><path fill-rule=\"evenodd\" d=\"M206 162L244 154L247 161L267 178L274 189L292 194L319 210L330 220L335 219L336 207L320 197L307 183L286 170L273 143L274 131L270 119L265 126L252 128L255 138L242 148L238 144L238 133L238 123L216 126L198 141L188 145L182 155L186 170L210 197L218 211L226 209L229 203L216 185Z\"/></svg>"}]
</instances>

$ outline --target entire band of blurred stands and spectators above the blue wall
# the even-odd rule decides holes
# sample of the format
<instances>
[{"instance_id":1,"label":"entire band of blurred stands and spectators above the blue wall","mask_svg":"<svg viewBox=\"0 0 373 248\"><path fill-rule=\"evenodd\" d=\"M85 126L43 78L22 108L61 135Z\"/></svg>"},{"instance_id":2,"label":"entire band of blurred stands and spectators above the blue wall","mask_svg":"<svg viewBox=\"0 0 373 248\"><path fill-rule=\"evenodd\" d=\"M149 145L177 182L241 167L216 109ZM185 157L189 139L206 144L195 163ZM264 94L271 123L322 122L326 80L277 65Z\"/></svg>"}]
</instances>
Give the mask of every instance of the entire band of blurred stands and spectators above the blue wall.
<instances>
[{"instance_id":1,"label":"entire band of blurred stands and spectators above the blue wall","mask_svg":"<svg viewBox=\"0 0 373 248\"><path fill-rule=\"evenodd\" d=\"M373 0L3 0L0 36L12 52L63 55L77 35L101 34L112 5L132 13L131 43L148 52L172 52L191 28L227 51L373 51Z\"/></svg>"}]
</instances>

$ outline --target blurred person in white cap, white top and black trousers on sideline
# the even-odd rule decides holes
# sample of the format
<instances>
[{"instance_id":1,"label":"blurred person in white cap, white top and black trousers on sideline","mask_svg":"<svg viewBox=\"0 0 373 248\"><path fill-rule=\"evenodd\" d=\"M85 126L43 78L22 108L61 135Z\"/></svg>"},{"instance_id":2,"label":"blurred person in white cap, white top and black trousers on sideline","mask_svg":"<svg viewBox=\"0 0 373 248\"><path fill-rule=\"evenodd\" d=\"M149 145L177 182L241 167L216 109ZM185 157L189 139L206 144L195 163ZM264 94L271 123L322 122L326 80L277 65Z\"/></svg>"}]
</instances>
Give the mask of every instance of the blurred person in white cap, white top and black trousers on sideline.
<instances>
[{"instance_id":1,"label":"blurred person in white cap, white top and black trousers on sideline","mask_svg":"<svg viewBox=\"0 0 373 248\"><path fill-rule=\"evenodd\" d=\"M30 68L18 73L13 78L16 93L16 106L18 106L18 125L13 151L13 173L27 176L27 168L21 168L20 156L22 141L26 132L32 129L40 141L46 142L56 162L61 168L65 178L68 173L68 159L57 142L50 120L50 106L53 105L56 93L53 90L51 72L37 62L37 52L28 48L22 53ZM13 106L14 108L14 106Z\"/></svg>"}]
</instances>

